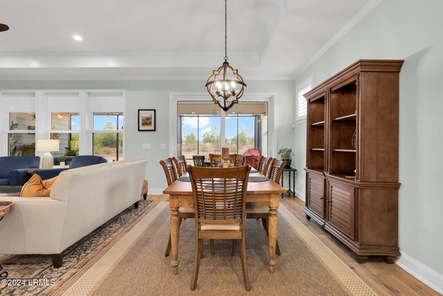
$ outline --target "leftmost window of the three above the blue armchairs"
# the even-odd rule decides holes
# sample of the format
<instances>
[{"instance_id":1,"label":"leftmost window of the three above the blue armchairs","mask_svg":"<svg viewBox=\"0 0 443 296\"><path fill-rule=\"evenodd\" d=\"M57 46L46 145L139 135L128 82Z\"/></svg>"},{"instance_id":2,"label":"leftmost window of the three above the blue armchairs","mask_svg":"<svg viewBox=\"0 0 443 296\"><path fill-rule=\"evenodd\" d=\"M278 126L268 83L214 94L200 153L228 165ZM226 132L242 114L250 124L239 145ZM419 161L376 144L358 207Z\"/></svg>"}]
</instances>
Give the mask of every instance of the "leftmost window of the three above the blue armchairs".
<instances>
[{"instance_id":1,"label":"leftmost window of the three above the blue armchairs","mask_svg":"<svg viewBox=\"0 0 443 296\"><path fill-rule=\"evenodd\" d=\"M35 155L35 113L10 112L8 155Z\"/></svg>"}]
</instances>

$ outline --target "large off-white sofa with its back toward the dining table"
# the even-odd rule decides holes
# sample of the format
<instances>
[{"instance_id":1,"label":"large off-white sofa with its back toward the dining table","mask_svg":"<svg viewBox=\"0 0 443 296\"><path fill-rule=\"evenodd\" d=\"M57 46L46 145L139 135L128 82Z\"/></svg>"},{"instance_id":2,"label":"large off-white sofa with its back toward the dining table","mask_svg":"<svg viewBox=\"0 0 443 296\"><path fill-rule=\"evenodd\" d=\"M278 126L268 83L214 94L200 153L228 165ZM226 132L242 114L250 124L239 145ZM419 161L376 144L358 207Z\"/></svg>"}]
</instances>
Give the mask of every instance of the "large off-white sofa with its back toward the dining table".
<instances>
[{"instance_id":1,"label":"large off-white sofa with its back toward the dining table","mask_svg":"<svg viewBox=\"0 0 443 296\"><path fill-rule=\"evenodd\" d=\"M67 247L138 206L146 164L125 160L63 171L49 198L0 196L15 203L0 221L0 254L51 254L59 268Z\"/></svg>"}]
</instances>

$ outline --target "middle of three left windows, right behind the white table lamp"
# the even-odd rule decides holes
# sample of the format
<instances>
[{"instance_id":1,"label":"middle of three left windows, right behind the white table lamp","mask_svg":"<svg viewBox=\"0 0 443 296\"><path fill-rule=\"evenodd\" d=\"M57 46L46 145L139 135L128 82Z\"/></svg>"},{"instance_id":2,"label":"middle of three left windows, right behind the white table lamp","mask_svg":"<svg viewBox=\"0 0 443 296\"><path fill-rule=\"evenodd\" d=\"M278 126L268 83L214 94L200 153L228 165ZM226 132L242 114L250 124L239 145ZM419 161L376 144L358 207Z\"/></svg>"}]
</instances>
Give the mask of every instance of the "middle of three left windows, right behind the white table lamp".
<instances>
[{"instance_id":1,"label":"middle of three left windows, right behind the white table lamp","mask_svg":"<svg viewBox=\"0 0 443 296\"><path fill-rule=\"evenodd\" d=\"M51 113L51 139L59 140L59 150L51 154L54 164L62 155L79 155L80 148L80 114L72 112Z\"/></svg>"}]
</instances>

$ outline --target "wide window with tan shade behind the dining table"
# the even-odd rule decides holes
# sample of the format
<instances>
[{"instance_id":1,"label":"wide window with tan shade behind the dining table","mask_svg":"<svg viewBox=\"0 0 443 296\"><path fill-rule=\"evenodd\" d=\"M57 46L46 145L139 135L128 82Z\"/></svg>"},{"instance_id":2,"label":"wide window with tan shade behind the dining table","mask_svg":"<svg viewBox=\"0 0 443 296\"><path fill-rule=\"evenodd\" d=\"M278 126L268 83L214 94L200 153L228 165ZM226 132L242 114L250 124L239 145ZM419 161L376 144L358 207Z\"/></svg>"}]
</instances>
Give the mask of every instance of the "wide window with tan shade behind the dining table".
<instances>
[{"instance_id":1,"label":"wide window with tan shade behind the dining table","mask_svg":"<svg viewBox=\"0 0 443 296\"><path fill-rule=\"evenodd\" d=\"M229 113L208 101L177 103L178 154L192 162L192 155L221 154L221 146L242 155L249 148L268 153L268 103L235 104Z\"/></svg>"}]
</instances>

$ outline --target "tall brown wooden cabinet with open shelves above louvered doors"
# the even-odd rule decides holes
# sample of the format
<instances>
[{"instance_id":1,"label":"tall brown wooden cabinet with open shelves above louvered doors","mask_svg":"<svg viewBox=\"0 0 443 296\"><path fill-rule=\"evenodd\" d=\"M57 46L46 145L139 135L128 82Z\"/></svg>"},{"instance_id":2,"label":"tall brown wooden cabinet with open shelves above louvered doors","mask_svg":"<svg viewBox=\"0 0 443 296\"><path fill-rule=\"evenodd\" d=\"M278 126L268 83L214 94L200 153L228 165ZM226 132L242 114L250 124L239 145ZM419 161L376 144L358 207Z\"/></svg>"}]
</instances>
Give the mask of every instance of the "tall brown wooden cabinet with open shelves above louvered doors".
<instances>
[{"instance_id":1,"label":"tall brown wooden cabinet with open shelves above louvered doors","mask_svg":"<svg viewBox=\"0 0 443 296\"><path fill-rule=\"evenodd\" d=\"M399 256L402 60L359 60L305 95L305 214L363 261Z\"/></svg>"}]
</instances>

